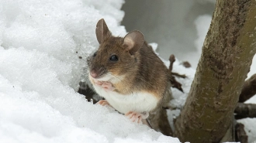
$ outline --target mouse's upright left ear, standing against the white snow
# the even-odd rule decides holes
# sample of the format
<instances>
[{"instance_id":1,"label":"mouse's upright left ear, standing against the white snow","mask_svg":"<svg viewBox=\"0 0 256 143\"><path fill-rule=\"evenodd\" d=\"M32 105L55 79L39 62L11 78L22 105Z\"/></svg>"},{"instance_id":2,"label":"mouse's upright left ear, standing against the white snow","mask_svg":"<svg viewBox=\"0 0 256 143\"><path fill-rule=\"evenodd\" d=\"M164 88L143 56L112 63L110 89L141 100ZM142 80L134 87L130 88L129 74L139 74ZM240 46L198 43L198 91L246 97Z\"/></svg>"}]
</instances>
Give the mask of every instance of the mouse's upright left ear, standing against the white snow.
<instances>
[{"instance_id":1,"label":"mouse's upright left ear, standing against the white snow","mask_svg":"<svg viewBox=\"0 0 256 143\"><path fill-rule=\"evenodd\" d=\"M99 20L99 22L96 25L95 32L96 32L96 36L99 44L101 44L103 40L106 39L107 37L112 36L104 19Z\"/></svg>"}]
</instances>

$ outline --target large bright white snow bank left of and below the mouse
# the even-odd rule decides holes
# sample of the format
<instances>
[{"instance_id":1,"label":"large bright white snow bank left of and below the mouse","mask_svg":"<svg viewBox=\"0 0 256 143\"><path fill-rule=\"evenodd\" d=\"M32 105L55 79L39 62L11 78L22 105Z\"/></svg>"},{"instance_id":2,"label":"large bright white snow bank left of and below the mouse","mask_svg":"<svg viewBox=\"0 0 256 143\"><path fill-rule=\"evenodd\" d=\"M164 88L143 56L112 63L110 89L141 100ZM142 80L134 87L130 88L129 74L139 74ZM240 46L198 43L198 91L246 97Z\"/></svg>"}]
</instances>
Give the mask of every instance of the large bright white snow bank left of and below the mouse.
<instances>
[{"instance_id":1,"label":"large bright white snow bank left of and below the mouse","mask_svg":"<svg viewBox=\"0 0 256 143\"><path fill-rule=\"evenodd\" d=\"M179 142L75 92L85 57L98 46L96 22L126 34L122 5L0 1L0 142Z\"/></svg>"}]
</instances>

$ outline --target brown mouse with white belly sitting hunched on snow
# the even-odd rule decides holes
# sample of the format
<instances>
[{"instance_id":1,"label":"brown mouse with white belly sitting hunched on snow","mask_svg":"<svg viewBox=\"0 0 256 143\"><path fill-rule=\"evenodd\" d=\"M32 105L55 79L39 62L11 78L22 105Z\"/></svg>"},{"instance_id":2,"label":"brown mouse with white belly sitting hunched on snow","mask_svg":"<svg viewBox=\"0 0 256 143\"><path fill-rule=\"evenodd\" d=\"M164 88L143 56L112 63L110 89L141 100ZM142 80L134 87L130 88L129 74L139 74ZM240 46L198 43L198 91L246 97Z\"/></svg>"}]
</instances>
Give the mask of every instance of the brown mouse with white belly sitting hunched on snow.
<instances>
[{"instance_id":1,"label":"brown mouse with white belly sitting hunched on snow","mask_svg":"<svg viewBox=\"0 0 256 143\"><path fill-rule=\"evenodd\" d=\"M95 29L99 49L88 56L88 79L109 105L140 123L171 100L168 68L138 30L112 36L104 19Z\"/></svg>"}]
</instances>

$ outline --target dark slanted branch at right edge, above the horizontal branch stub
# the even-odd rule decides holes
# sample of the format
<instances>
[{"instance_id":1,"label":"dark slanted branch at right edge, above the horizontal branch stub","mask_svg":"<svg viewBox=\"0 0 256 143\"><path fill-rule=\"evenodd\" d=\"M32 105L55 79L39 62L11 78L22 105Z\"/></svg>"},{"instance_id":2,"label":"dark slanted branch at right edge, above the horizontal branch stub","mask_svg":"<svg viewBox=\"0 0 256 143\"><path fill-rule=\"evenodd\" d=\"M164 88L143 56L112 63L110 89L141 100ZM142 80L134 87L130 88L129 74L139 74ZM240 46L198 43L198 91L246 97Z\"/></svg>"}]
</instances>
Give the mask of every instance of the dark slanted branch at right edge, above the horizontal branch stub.
<instances>
[{"instance_id":1,"label":"dark slanted branch at right edge, above the horizontal branch stub","mask_svg":"<svg viewBox=\"0 0 256 143\"><path fill-rule=\"evenodd\" d=\"M239 102L244 102L256 94L256 74L252 75L244 82L243 90L239 97Z\"/></svg>"}]
</instances>

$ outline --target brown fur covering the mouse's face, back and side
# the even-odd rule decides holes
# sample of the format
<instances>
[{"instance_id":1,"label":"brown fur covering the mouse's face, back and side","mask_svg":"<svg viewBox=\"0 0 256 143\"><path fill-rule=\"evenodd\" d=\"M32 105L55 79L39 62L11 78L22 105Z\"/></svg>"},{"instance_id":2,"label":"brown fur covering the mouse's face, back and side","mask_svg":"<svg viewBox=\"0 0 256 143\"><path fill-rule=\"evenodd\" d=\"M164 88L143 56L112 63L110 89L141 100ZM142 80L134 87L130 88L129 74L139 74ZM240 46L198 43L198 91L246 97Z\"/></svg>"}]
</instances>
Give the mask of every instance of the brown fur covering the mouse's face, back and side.
<instances>
[{"instance_id":1,"label":"brown fur covering the mouse's face, back and side","mask_svg":"<svg viewBox=\"0 0 256 143\"><path fill-rule=\"evenodd\" d=\"M106 23L103 30L106 35L100 36L98 39L101 44L97 55L89 57L88 60L90 70L99 73L99 77L108 72L116 77L123 76L123 80L113 83L113 86L116 87L116 92L124 94L124 96L133 92L147 92L157 97L161 103L165 98L166 100L170 99L168 69L154 53L152 47L144 42L137 52L131 54L123 43L124 38L112 36ZM112 55L118 56L119 60L117 62L109 61L109 57Z\"/></svg>"}]
</instances>

